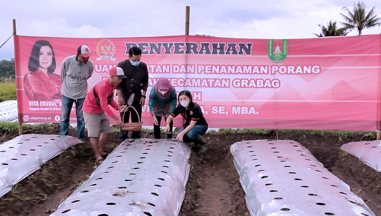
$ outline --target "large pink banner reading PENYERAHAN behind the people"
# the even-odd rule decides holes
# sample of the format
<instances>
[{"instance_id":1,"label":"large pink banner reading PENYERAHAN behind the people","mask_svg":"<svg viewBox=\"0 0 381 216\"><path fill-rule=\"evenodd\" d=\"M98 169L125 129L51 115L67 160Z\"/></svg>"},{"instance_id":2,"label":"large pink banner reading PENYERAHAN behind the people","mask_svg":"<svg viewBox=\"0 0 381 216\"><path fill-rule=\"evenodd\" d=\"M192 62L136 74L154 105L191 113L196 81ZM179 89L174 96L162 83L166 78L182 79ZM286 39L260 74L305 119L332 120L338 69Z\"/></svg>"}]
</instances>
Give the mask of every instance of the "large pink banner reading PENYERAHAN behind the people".
<instances>
[{"instance_id":1,"label":"large pink banner reading PENYERAHAN behind the people","mask_svg":"<svg viewBox=\"0 0 381 216\"><path fill-rule=\"evenodd\" d=\"M142 49L149 88L160 77L177 91L189 90L209 127L376 130L380 129L381 35L263 40L198 37L45 38L15 37L19 120L60 122L60 99L28 98L24 76L38 40L54 50L60 76L62 60L86 44L94 56L89 89L109 77L109 69ZM46 83L51 85L51 83ZM116 100L116 98L115 98ZM144 125L152 125L148 95ZM75 120L73 108L71 122ZM176 118L175 125L182 120Z\"/></svg>"}]
</instances>

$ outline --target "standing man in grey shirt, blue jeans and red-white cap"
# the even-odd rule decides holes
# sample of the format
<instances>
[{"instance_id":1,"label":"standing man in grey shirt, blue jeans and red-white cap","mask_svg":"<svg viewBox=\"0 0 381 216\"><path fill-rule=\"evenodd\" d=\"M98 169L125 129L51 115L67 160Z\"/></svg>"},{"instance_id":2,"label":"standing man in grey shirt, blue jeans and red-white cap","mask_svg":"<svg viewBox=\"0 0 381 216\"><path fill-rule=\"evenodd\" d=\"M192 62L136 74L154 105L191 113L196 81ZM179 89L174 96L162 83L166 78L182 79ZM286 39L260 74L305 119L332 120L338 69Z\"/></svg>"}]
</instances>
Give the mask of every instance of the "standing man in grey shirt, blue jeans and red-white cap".
<instances>
[{"instance_id":1,"label":"standing man in grey shirt, blue jeans and red-white cap","mask_svg":"<svg viewBox=\"0 0 381 216\"><path fill-rule=\"evenodd\" d=\"M84 141L85 121L83 119L82 105L87 93L87 80L92 76L94 65L89 60L91 55L87 45L78 47L77 54L63 59L61 67L62 82L62 111L60 135L68 135L70 112L73 103L77 114L77 138Z\"/></svg>"}]
</instances>

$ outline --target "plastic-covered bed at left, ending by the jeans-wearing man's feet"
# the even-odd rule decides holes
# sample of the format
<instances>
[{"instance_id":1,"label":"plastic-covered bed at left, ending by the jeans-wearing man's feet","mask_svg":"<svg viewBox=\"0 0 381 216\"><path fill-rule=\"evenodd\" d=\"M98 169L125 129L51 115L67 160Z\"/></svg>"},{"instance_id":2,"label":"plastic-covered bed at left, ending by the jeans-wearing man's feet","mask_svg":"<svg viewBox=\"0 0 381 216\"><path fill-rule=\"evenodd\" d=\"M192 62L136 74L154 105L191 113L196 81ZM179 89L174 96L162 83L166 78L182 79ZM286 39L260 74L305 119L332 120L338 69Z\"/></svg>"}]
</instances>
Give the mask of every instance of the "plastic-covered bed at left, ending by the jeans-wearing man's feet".
<instances>
[{"instance_id":1,"label":"plastic-covered bed at left, ending by the jeans-wearing man's feet","mask_svg":"<svg viewBox=\"0 0 381 216\"><path fill-rule=\"evenodd\" d=\"M80 142L71 136L25 134L0 144L0 197L42 164Z\"/></svg>"}]
</instances>

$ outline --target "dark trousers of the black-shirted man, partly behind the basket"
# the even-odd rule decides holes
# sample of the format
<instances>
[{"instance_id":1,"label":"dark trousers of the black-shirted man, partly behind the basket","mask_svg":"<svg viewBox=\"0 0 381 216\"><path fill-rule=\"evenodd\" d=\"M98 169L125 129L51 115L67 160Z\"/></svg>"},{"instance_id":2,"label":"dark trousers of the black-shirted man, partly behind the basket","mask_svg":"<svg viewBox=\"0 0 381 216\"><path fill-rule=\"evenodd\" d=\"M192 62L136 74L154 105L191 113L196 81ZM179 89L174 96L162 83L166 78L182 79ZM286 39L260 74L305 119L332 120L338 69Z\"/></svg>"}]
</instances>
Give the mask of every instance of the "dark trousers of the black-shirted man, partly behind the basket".
<instances>
[{"instance_id":1,"label":"dark trousers of the black-shirted man, partly behind the basket","mask_svg":"<svg viewBox=\"0 0 381 216\"><path fill-rule=\"evenodd\" d=\"M132 106L134 106L134 108L138 112L138 115L139 115L139 118L141 121L141 119L142 119L142 106L140 105L140 101L134 101L132 103ZM136 115L136 112L134 111L134 109L132 109L130 107L129 110L127 112L125 112L125 115L124 115L124 113L120 113L120 119L122 120L123 123L130 122L130 114L131 114L131 122L139 122L138 115ZM123 119L123 115L124 115L124 119ZM128 133L129 133L128 130L120 130L120 133L121 133L120 141L123 141L124 139L129 138L128 137ZM139 139L140 138L140 131L133 131L131 134L131 138Z\"/></svg>"}]
</instances>

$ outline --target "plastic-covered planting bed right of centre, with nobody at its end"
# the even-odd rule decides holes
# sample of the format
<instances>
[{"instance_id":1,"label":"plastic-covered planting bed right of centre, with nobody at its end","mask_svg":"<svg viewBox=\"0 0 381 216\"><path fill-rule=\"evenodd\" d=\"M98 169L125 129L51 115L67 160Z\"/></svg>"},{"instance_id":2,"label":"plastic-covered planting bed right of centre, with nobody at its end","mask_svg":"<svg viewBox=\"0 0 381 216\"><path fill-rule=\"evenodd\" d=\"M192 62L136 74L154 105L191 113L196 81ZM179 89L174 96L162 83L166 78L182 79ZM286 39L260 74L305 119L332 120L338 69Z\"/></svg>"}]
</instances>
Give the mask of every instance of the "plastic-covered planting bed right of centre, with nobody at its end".
<instances>
[{"instance_id":1,"label":"plastic-covered planting bed right of centre, with nobody at its end","mask_svg":"<svg viewBox=\"0 0 381 216\"><path fill-rule=\"evenodd\" d=\"M251 215L373 215L350 187L293 140L231 146Z\"/></svg>"}]
</instances>

